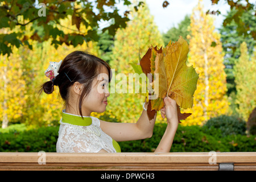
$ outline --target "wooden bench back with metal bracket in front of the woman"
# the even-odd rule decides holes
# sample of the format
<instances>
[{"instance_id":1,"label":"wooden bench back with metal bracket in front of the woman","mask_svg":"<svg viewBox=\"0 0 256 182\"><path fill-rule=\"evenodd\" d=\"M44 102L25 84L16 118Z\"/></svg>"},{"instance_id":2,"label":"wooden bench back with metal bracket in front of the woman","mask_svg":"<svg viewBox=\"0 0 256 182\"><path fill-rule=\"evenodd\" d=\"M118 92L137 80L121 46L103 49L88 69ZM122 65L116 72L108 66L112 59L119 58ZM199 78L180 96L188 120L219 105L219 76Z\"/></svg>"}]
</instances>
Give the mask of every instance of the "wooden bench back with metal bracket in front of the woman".
<instances>
[{"instance_id":1,"label":"wooden bench back with metal bracket in front of the woman","mask_svg":"<svg viewBox=\"0 0 256 182\"><path fill-rule=\"evenodd\" d=\"M214 164L215 163L215 164ZM0 152L0 170L256 170L256 152Z\"/></svg>"}]
</instances>

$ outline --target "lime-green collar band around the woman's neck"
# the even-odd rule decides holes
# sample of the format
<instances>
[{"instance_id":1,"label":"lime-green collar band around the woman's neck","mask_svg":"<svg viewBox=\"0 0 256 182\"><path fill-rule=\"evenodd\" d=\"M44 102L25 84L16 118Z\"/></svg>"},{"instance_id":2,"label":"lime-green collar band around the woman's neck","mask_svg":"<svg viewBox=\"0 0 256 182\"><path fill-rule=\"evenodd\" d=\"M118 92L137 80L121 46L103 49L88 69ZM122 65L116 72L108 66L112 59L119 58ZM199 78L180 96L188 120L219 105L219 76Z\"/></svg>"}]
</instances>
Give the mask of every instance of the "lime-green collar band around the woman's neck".
<instances>
[{"instance_id":1,"label":"lime-green collar band around the woman's neck","mask_svg":"<svg viewBox=\"0 0 256 182\"><path fill-rule=\"evenodd\" d=\"M62 111L62 122L69 123L71 125L78 125L78 126L89 126L92 125L92 118L89 116L75 115L65 113L65 109Z\"/></svg>"}]
</instances>

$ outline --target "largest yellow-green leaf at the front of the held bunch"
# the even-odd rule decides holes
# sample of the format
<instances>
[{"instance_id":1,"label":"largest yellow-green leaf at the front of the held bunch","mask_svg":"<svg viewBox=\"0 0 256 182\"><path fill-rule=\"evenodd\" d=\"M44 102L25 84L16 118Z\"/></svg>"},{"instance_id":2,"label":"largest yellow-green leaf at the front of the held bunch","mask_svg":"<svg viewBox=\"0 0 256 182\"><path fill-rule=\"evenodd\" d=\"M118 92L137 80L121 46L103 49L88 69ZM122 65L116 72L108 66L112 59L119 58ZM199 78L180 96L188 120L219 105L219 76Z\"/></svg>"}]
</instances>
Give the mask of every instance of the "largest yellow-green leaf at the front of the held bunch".
<instances>
[{"instance_id":1,"label":"largest yellow-green leaf at the front of the held bunch","mask_svg":"<svg viewBox=\"0 0 256 182\"><path fill-rule=\"evenodd\" d=\"M180 36L175 43L169 43L163 53L157 53L155 71L159 75L159 98L167 95L181 108L193 106L193 94L199 75L193 66L187 67L188 43ZM151 100L152 109L163 107L163 100Z\"/></svg>"}]
</instances>

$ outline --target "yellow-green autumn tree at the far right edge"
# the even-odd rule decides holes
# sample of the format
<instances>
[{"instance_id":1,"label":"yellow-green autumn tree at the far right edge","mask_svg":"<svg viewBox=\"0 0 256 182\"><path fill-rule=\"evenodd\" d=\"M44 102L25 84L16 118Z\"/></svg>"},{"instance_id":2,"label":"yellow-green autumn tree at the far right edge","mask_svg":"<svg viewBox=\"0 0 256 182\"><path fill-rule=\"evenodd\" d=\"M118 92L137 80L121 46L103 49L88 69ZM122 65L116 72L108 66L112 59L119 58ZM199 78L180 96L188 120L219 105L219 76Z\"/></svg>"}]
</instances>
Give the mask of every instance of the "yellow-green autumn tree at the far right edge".
<instances>
[{"instance_id":1,"label":"yellow-green autumn tree at the far right edge","mask_svg":"<svg viewBox=\"0 0 256 182\"><path fill-rule=\"evenodd\" d=\"M245 42L241 44L240 51L241 55L234 66L236 104L237 113L247 121L256 106L256 56L249 57Z\"/></svg>"}]
</instances>

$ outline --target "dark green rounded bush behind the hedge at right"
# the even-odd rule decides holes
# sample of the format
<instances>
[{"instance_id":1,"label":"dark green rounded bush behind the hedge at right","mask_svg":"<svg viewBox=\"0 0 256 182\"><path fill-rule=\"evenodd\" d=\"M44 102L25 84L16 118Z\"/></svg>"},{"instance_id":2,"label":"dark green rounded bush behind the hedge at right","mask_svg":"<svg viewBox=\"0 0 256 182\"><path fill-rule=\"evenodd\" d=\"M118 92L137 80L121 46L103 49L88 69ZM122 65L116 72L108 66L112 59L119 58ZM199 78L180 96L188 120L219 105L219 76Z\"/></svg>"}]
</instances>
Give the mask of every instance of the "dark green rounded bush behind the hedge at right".
<instances>
[{"instance_id":1,"label":"dark green rounded bush behind the hedge at right","mask_svg":"<svg viewBox=\"0 0 256 182\"><path fill-rule=\"evenodd\" d=\"M218 135L218 137L245 135L246 122L234 116L220 115L219 117L210 118L203 129L205 133Z\"/></svg>"}]
</instances>

